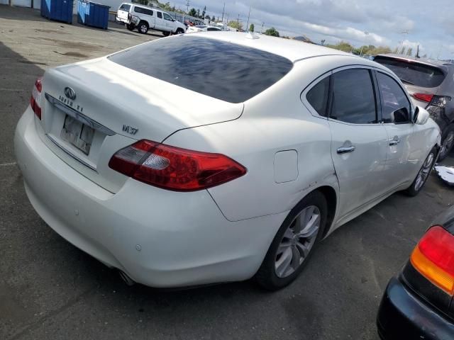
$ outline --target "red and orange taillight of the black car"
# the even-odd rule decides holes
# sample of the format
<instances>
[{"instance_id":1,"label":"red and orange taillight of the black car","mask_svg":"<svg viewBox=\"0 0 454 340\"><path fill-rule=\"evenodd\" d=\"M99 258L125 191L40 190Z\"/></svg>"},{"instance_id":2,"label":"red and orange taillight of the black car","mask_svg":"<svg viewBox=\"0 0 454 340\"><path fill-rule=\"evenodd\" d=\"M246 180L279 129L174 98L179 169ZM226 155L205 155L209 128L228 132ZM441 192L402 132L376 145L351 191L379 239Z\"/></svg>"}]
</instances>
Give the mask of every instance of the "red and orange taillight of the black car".
<instances>
[{"instance_id":1,"label":"red and orange taillight of the black car","mask_svg":"<svg viewBox=\"0 0 454 340\"><path fill-rule=\"evenodd\" d=\"M438 225L428 229L410 258L419 273L454 295L454 236Z\"/></svg>"}]
</instances>

